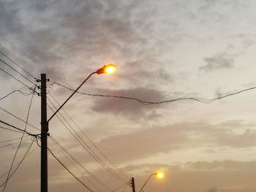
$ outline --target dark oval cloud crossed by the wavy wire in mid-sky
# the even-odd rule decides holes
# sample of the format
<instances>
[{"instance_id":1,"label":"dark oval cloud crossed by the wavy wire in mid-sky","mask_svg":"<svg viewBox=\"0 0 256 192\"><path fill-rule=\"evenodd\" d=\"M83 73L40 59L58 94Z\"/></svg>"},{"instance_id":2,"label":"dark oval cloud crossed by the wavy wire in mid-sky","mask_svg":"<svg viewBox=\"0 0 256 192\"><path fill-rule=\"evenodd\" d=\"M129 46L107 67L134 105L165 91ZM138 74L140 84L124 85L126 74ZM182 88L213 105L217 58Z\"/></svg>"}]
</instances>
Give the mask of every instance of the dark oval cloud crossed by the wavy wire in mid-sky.
<instances>
[{"instance_id":1,"label":"dark oval cloud crossed by the wavy wire in mid-sky","mask_svg":"<svg viewBox=\"0 0 256 192\"><path fill-rule=\"evenodd\" d=\"M99 93L104 93L113 96L125 96L130 98L141 99L144 101L162 101L165 98L164 93L161 93L153 88L130 88L116 91L100 90ZM143 105L138 101L129 99L116 98L99 98L94 101L91 109L95 112L110 113L113 115L123 115L127 118L154 118L155 110L159 105Z\"/></svg>"}]
</instances>

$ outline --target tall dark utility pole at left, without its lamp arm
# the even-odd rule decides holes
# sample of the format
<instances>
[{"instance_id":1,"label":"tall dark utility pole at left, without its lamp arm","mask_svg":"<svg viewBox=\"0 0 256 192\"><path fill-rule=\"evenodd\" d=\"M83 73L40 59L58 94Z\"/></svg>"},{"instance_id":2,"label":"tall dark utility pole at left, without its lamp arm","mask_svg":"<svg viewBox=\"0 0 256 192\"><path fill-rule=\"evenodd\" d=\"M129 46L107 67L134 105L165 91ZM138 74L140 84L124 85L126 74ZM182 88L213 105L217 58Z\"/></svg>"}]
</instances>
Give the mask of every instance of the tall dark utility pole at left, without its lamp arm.
<instances>
[{"instance_id":1,"label":"tall dark utility pole at left, without its lamp arm","mask_svg":"<svg viewBox=\"0 0 256 192\"><path fill-rule=\"evenodd\" d=\"M48 192L46 74L41 74L41 192Z\"/></svg>"}]
</instances>

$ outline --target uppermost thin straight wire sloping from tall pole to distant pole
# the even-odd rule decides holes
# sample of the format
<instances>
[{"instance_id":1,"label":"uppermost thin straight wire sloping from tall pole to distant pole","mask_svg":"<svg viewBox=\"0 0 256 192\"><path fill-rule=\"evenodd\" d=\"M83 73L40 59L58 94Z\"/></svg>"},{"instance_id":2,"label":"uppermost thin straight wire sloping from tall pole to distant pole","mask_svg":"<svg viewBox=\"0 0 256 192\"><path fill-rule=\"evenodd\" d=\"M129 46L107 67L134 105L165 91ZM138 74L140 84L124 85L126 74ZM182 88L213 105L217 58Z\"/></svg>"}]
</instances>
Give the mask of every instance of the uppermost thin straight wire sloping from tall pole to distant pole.
<instances>
[{"instance_id":1,"label":"uppermost thin straight wire sloping from tall pole to distant pole","mask_svg":"<svg viewBox=\"0 0 256 192\"><path fill-rule=\"evenodd\" d=\"M59 102L57 101L57 99L54 98L54 96L50 93L50 96L53 98L54 101L56 101L56 103L60 106ZM95 147L95 149L116 169L118 169L112 161L110 161L110 159L107 157L107 155L105 155L102 150L99 150L99 147L97 147L97 145L95 145L95 143L83 132L82 128L80 128L80 126L78 126L78 123L75 122L75 120L73 120L70 115L66 112L66 110L62 109L64 111L64 113L67 115L67 117L72 121L72 123L75 124L75 126L80 130L80 132L83 134L84 137L86 137L86 139L89 140L89 142L91 143L91 145L93 145ZM120 172L124 177L127 177L127 179L129 180L129 177L125 174L123 174L122 172Z\"/></svg>"}]
</instances>

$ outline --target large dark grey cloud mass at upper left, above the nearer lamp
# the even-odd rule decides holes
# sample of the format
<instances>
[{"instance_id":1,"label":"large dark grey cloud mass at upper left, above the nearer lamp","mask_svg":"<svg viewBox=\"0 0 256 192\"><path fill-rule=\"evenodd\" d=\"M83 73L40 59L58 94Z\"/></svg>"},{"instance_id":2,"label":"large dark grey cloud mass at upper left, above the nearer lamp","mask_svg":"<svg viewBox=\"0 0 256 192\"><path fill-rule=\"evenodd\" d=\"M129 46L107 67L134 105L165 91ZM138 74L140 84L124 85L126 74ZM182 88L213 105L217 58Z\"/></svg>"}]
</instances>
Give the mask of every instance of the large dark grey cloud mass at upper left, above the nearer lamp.
<instances>
[{"instance_id":1,"label":"large dark grey cloud mass at upper left, above the nearer lamp","mask_svg":"<svg viewBox=\"0 0 256 192\"><path fill-rule=\"evenodd\" d=\"M99 62L115 60L123 68L135 62L137 68L129 69L122 76L122 80L131 85L138 82L148 85L150 79L170 82L170 74L157 66L166 43L163 36L167 36L170 42L176 41L176 34L171 36L163 31L169 26L174 26L172 31L176 31L176 24L170 23L167 28L156 32L156 10L145 4L140 7L140 4L143 3L61 1L60 4L57 1L28 1L10 14L10 10L5 9L10 6L4 3L2 13L8 18L8 23L3 20L1 30L6 30L12 39L4 47L18 53L16 56L22 66L26 65L30 71L34 69L37 74L47 72L55 80L67 80L73 71L77 72L76 77L84 76L87 70L96 69ZM28 15L29 20L26 20ZM15 22L22 31L13 29ZM162 39L152 39L159 37L158 32L162 32ZM152 40L153 43L150 43ZM72 65L71 70L67 64Z\"/></svg>"}]
</instances>

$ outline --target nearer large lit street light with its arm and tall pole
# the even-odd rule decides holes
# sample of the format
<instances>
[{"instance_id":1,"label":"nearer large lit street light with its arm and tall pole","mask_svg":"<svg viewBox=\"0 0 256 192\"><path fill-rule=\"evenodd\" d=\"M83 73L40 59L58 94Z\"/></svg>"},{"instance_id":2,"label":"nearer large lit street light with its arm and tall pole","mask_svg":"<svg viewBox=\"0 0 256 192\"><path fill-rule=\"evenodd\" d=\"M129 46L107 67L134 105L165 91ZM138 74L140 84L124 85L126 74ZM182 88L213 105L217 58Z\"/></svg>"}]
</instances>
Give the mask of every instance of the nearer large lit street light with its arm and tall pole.
<instances>
[{"instance_id":1,"label":"nearer large lit street light with its arm and tall pole","mask_svg":"<svg viewBox=\"0 0 256 192\"><path fill-rule=\"evenodd\" d=\"M82 87L82 85L89 80L89 78L93 74L103 74L103 73L113 73L116 71L116 66L113 64L109 64L107 66L102 66L102 68L98 69L95 72L89 74L86 77L86 80L78 86L78 88L64 101L63 104L59 107L56 112L51 115L51 117L47 120L47 103L46 103L46 74L41 74L41 192L48 192L48 155L47 155L47 137L48 137L48 124L49 121L56 115L59 110L64 106L64 104L69 101L69 99Z\"/></svg>"}]
</instances>

